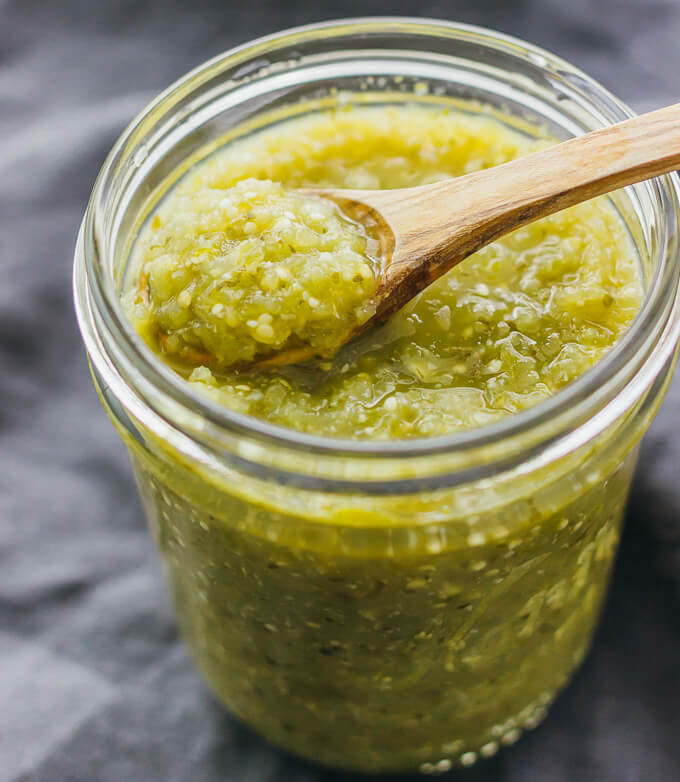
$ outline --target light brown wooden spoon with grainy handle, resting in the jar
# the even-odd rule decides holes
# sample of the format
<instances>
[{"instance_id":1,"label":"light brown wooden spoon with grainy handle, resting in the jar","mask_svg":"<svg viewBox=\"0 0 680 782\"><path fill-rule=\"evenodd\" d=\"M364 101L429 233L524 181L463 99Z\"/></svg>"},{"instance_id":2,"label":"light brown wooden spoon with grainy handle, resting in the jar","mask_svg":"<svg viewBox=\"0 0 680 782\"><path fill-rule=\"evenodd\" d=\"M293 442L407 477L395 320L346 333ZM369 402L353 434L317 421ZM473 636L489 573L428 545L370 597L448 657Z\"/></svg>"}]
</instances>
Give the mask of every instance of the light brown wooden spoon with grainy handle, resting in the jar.
<instances>
[{"instance_id":1,"label":"light brown wooden spoon with grainy handle, resting in the jar","mask_svg":"<svg viewBox=\"0 0 680 782\"><path fill-rule=\"evenodd\" d=\"M384 253L375 315L381 323L468 255L541 217L680 168L680 103L570 139L509 163L421 187L305 190L377 228ZM311 347L255 364L312 358Z\"/></svg>"}]
</instances>

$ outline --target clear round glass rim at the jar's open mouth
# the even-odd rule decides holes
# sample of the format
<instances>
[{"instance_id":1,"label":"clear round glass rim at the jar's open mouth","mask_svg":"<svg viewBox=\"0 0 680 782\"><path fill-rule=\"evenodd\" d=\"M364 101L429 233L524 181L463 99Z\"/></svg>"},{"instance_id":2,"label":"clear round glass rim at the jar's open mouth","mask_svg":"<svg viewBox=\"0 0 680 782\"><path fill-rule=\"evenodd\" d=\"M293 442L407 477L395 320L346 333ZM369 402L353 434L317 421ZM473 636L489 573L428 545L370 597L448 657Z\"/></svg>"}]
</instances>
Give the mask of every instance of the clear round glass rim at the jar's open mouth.
<instances>
[{"instance_id":1,"label":"clear round glass rim at the jar's open mouth","mask_svg":"<svg viewBox=\"0 0 680 782\"><path fill-rule=\"evenodd\" d=\"M154 394L163 399L162 412L158 406L155 411L160 413L161 418L167 420L179 416L182 428L190 432L193 439L210 441L220 451L233 451L234 438L249 438L253 447L247 449L247 455L244 456L242 449L239 451L239 458L246 461L267 463L270 456L273 458L274 451L280 452L279 456L297 451L307 457L317 455L331 460L352 457L383 459L392 464L403 463L405 459L477 453L479 458L472 459L477 467L476 472L462 469L465 466L464 459L457 461L458 467L449 464L447 468L441 468L443 471L453 468L460 473L460 480L455 481L458 483L473 475L507 469L511 454L519 457L522 452L523 457L526 457L527 451L544 451L558 441L562 449L573 449L577 440L585 441L595 434L597 427L594 427L593 422L596 418L600 422L599 428L605 428L602 420L605 408L609 409L606 418L615 420L620 415L623 409L623 388L628 389L630 403L631 394L640 396L641 390L648 387L658 375L660 367L673 352L680 330L680 257L676 237L680 215L680 179L677 174L660 177L651 185L654 197L661 205L663 230L658 236L659 258L655 272L642 307L631 326L605 357L564 389L533 407L485 426L436 437L380 441L307 434L219 405L197 393L165 366L150 348L142 344L122 311L114 286L106 279L100 257L103 252L102 242L98 241L97 236L101 212L106 205L107 187L125 157L132 136L149 123L152 115L162 112L167 104L190 94L191 89L196 88L194 83L197 80L203 83L221 69L226 70L236 60L262 57L266 50L275 51L291 41L304 42L324 36L336 40L341 35L400 33L433 38L442 35L454 39L466 37L486 48L512 51L514 55L521 53L534 64L539 63L546 70L559 72L562 78L578 80L587 89L591 103L606 106L605 113L608 116L605 121L615 122L633 115L625 104L598 82L540 47L483 27L436 19L388 16L332 20L257 38L208 60L162 92L123 132L102 166L81 227L74 268L76 311L94 369L104 376L104 382L111 386L114 394L122 393L124 386L129 391L132 385L130 372L139 373L140 382L137 385L135 381L137 387L134 389L138 401L145 399L142 387L147 391L153 390ZM663 319L665 322L662 322ZM113 360L112 347L117 350ZM123 364L126 365L124 369ZM146 398L148 401L148 395ZM617 400L619 404L616 404ZM577 429L582 431L575 438ZM519 443L516 448L508 446L505 450L496 447L500 443L508 444L520 438L521 447ZM551 453L555 455L554 448ZM470 468L474 466L472 462L468 465ZM317 471L314 472L316 474Z\"/></svg>"}]
</instances>

